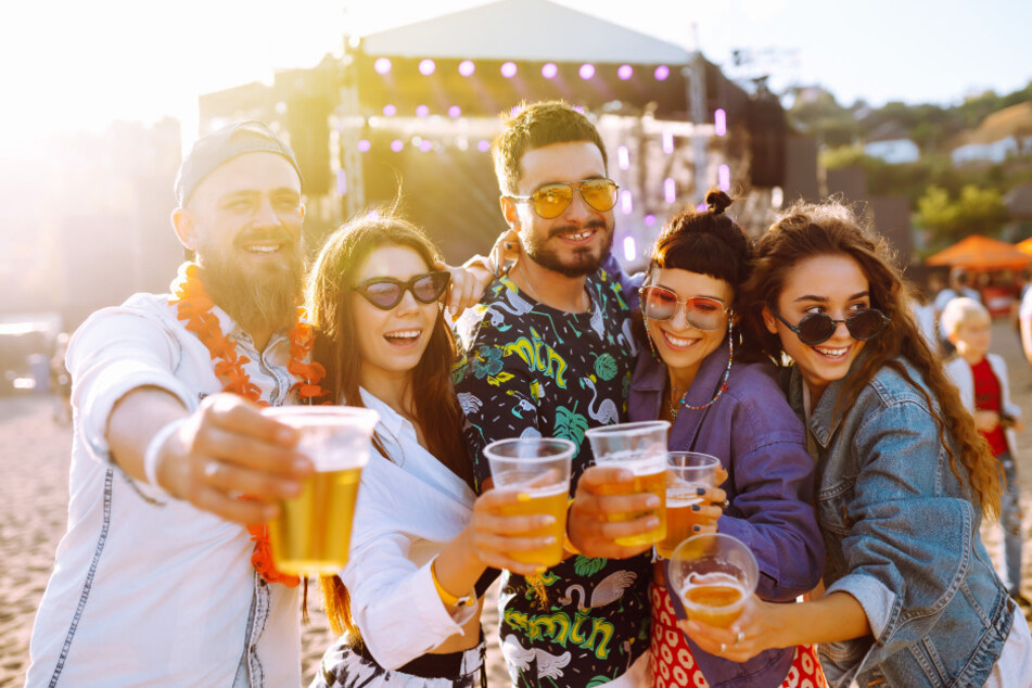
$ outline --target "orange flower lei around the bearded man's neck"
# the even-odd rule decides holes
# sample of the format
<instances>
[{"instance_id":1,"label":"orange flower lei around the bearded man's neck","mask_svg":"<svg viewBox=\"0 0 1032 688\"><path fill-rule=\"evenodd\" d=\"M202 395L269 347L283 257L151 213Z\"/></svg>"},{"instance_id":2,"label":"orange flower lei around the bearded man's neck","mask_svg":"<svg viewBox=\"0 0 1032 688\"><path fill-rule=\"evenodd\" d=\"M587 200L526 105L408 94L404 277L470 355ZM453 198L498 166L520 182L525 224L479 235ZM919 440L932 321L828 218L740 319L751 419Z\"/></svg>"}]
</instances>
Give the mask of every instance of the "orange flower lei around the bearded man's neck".
<instances>
[{"instance_id":1,"label":"orange flower lei around the bearded man's neck","mask_svg":"<svg viewBox=\"0 0 1032 688\"><path fill-rule=\"evenodd\" d=\"M176 298L169 304L176 306L177 317L186 322L188 331L193 332L201 343L212 354L215 361L215 374L225 383L224 392L231 392L251 399L258 406L268 406L262 398L262 390L251 382L251 375L244 366L251 362L246 356L237 354L237 343L222 334L218 317L212 313L215 302L204 291L201 283L200 268L195 263L186 263L179 269L179 276L173 283L173 293ZM297 309L297 321L288 333L290 339L290 362L286 369L296 377L297 382L291 386L297 396L311 404L315 399L324 396L327 392L319 386L326 375L326 369L317 362L306 364L311 353L315 332L311 326L304 321L304 308ZM269 530L264 523L247 525L254 551L251 555L251 565L269 583L282 583L288 587L295 587L300 583L297 576L286 575L276 570L269 550Z\"/></svg>"}]
</instances>

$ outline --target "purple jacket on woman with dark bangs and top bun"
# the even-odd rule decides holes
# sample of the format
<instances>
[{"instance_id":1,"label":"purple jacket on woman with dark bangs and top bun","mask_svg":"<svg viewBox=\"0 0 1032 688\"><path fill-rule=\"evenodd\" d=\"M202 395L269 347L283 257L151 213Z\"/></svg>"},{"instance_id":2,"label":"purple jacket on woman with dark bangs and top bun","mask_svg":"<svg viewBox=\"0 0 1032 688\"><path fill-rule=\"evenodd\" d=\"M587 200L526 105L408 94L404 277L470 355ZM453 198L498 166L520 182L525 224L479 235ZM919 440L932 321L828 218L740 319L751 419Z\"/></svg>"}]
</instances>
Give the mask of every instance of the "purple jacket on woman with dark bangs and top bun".
<instances>
[{"instance_id":1,"label":"purple jacket on woman with dark bangs and top bun","mask_svg":"<svg viewBox=\"0 0 1032 688\"><path fill-rule=\"evenodd\" d=\"M713 397L727 359L725 342L702 361L688 404L701 406ZM760 597L793 600L817 585L824 562L813 509L814 462L806 454L805 432L785 400L772 365L736 362L727 385L709 409L683 409L677 415L670 448L703 451L722 460L729 475L722 487L730 506L717 530L742 540L756 556ZM659 418L665 386L666 368L641 347L627 400L630 420ZM780 686L795 650L767 650L738 664L688 644L714 688Z\"/></svg>"}]
</instances>

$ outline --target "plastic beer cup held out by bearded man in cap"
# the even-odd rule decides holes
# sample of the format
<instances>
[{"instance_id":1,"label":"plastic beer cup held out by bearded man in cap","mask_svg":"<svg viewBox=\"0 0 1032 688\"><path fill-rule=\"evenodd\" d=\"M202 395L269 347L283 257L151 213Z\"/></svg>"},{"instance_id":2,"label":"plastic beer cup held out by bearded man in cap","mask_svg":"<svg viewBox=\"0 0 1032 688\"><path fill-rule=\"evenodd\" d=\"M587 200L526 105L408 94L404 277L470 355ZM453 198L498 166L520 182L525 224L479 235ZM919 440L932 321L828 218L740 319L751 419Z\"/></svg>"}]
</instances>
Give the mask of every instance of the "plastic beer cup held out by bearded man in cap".
<instances>
[{"instance_id":1,"label":"plastic beer cup held out by bearded man in cap","mask_svg":"<svg viewBox=\"0 0 1032 688\"><path fill-rule=\"evenodd\" d=\"M347 563L358 480L380 417L354 406L281 406L265 413L301 431L296 450L316 469L269 522L272 562L281 573L335 574Z\"/></svg>"}]
</instances>

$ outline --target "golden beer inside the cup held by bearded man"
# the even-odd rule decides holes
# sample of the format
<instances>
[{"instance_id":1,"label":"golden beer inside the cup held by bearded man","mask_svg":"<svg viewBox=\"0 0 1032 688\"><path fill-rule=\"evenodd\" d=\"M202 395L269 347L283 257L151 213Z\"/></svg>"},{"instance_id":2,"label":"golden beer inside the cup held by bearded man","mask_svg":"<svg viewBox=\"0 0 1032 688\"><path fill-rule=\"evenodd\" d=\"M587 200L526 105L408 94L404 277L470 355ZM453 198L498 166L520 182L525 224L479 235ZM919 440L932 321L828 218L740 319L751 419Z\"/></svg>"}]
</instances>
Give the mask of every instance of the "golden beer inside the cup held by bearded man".
<instances>
[{"instance_id":1,"label":"golden beer inside the cup held by bearded man","mask_svg":"<svg viewBox=\"0 0 1032 688\"><path fill-rule=\"evenodd\" d=\"M323 471L305 481L301 495L280 502L269 522L272 561L281 573L332 575L347 563L352 517L361 467Z\"/></svg>"}]
</instances>

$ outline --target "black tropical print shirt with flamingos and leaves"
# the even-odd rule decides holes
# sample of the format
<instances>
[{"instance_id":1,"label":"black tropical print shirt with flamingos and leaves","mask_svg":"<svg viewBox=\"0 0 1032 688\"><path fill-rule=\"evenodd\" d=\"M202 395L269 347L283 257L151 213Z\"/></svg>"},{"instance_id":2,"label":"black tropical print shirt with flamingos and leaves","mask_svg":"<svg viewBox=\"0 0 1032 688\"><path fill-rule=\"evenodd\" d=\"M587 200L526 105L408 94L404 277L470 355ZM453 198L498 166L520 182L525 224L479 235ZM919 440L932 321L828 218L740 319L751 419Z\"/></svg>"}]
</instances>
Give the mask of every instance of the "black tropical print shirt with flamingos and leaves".
<instances>
[{"instance_id":1,"label":"black tropical print shirt with flamingos and leaves","mask_svg":"<svg viewBox=\"0 0 1032 688\"><path fill-rule=\"evenodd\" d=\"M476 487L481 449L507 437L564 437L577 447L571 490L591 464L584 431L626 420L635 355L630 310L615 276L587 278L589 313L537 303L508 278L488 286L457 329L456 388L469 419ZM650 559L571 557L528 579L502 574L500 639L521 687L599 686L648 648Z\"/></svg>"}]
</instances>

